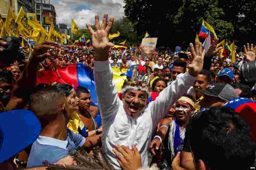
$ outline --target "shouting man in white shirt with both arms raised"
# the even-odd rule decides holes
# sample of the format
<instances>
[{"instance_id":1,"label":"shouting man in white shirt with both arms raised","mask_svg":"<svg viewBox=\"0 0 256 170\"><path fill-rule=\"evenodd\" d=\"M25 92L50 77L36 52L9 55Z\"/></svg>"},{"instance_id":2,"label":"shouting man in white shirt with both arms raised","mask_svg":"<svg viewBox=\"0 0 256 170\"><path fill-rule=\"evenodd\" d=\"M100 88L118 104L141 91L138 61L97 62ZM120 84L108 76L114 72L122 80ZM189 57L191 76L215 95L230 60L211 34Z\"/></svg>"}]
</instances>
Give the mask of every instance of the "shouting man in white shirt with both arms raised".
<instances>
[{"instance_id":1,"label":"shouting man in white shirt with both arms raised","mask_svg":"<svg viewBox=\"0 0 256 170\"><path fill-rule=\"evenodd\" d=\"M189 71L179 74L155 101L147 102L150 91L139 83L125 86L122 89L122 100L120 100L116 85L112 81L113 72L108 59L108 50L114 46L108 39L114 17L111 17L107 23L107 16L104 15L101 28L99 16L95 16L95 32L89 24L86 24L92 35L92 46L96 54L94 77L102 118L102 149L105 158L114 168L121 169L116 159L116 154L119 155L119 153L116 152L115 147L124 145L131 149L134 144L133 146L136 146L142 155L142 167L147 167L147 148L153 129L156 129L158 122L163 119L174 102L196 81L197 75L202 70L206 51L202 50L201 43L196 42L196 48L190 43L192 62L189 65Z\"/></svg>"}]
</instances>

